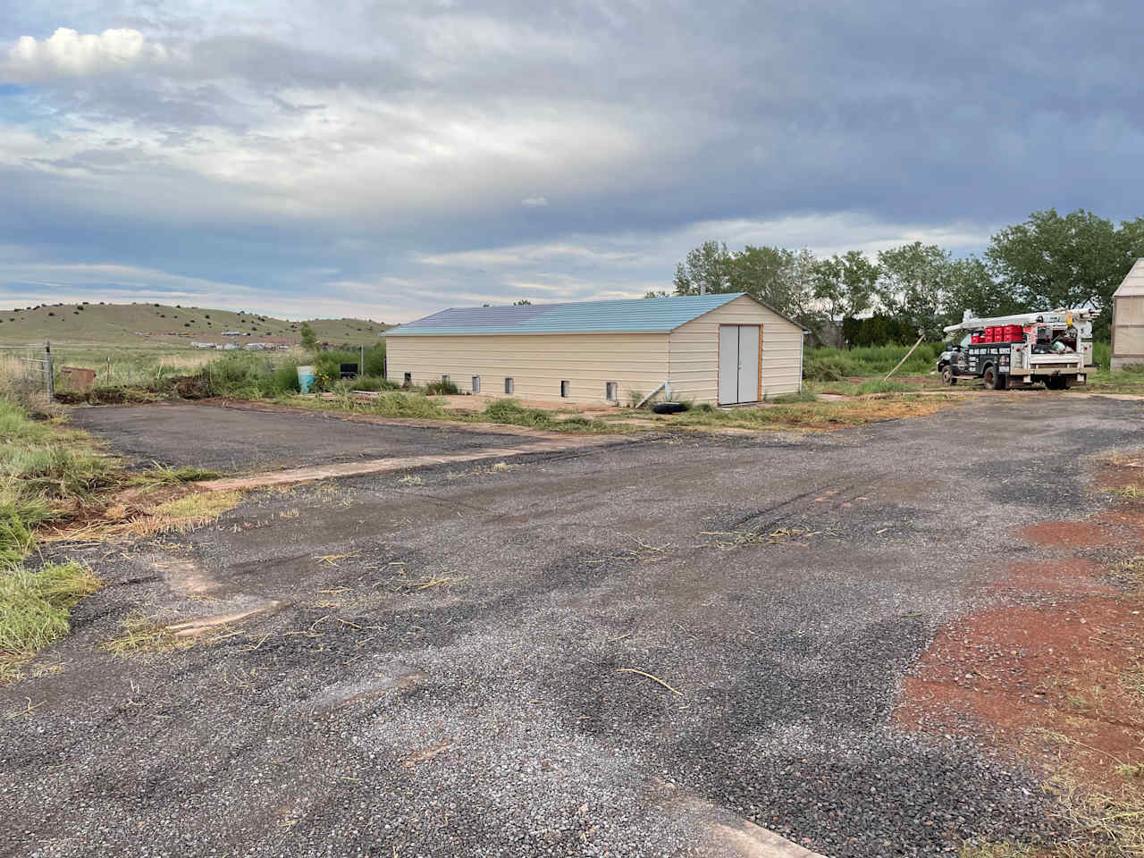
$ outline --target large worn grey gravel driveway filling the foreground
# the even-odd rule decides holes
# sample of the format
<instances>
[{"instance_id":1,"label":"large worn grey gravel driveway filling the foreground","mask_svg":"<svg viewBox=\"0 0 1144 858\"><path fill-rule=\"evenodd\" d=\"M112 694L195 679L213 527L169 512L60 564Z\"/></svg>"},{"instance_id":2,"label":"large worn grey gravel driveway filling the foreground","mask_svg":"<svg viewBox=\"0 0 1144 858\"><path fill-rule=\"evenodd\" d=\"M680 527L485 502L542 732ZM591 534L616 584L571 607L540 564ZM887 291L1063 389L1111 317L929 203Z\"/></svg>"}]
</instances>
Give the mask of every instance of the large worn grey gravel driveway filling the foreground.
<instances>
[{"instance_id":1,"label":"large worn grey gravel driveway filling the foreground","mask_svg":"<svg viewBox=\"0 0 1144 858\"><path fill-rule=\"evenodd\" d=\"M111 586L0 688L32 707L0 853L718 853L673 794L828 856L1051 839L1034 772L891 712L935 629L999 598L982 575L1039 556L1016 530L1107 505L1087 462L1144 446L1138 403L1054 408L422 468L57 547ZM130 611L257 604L210 645L97 649Z\"/></svg>"}]
</instances>

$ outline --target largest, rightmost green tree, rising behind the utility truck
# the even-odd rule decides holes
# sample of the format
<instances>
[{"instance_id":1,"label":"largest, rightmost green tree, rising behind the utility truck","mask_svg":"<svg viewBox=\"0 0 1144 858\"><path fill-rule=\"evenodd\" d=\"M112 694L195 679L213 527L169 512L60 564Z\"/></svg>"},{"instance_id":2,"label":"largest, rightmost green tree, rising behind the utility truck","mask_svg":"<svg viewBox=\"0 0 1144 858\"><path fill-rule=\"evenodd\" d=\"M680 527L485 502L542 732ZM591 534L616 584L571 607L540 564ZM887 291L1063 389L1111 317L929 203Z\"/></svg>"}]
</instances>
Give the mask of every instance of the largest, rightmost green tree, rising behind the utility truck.
<instances>
[{"instance_id":1,"label":"largest, rightmost green tree, rising behind the utility truck","mask_svg":"<svg viewBox=\"0 0 1144 858\"><path fill-rule=\"evenodd\" d=\"M999 230L985 251L996 279L1033 310L1093 304L1103 311L1094 332L1107 336L1112 293L1144 255L1144 219L1112 221L1082 208L1033 212Z\"/></svg>"}]
</instances>

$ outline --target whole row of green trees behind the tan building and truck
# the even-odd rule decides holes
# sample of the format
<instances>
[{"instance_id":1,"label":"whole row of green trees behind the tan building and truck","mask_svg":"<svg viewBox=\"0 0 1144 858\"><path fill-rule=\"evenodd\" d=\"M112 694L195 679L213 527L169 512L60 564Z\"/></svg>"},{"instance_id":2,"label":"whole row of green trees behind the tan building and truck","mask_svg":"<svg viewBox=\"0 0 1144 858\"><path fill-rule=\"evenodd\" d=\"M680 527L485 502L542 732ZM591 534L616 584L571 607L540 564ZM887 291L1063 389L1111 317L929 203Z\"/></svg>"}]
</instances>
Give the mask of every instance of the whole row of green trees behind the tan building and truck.
<instances>
[{"instance_id":1,"label":"whole row of green trees behind the tan building and truck","mask_svg":"<svg viewBox=\"0 0 1144 858\"><path fill-rule=\"evenodd\" d=\"M675 270L676 295L746 292L812 332L849 345L940 339L964 310L1006 316L1058 307L1097 307L1097 339L1107 339L1112 293L1144 257L1144 217L1119 224L1078 209L1034 212L995 232L982 256L954 257L921 241L881 251L816 257L807 248L729 251L706 241ZM649 292L648 297L667 295Z\"/></svg>"}]
</instances>

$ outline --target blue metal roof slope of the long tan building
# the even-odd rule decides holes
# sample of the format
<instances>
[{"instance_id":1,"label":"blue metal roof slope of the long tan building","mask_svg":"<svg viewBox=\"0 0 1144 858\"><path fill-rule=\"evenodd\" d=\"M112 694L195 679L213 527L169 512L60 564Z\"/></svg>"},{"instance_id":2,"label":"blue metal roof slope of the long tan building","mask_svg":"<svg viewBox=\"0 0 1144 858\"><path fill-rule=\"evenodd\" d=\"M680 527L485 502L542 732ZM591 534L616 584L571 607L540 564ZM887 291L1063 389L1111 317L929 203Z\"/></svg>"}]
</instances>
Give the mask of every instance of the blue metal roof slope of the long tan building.
<instances>
[{"instance_id":1,"label":"blue metal roof slope of the long tan building","mask_svg":"<svg viewBox=\"0 0 1144 858\"><path fill-rule=\"evenodd\" d=\"M454 307L384 336L443 334L662 333L741 297L742 292L524 307Z\"/></svg>"}]
</instances>

